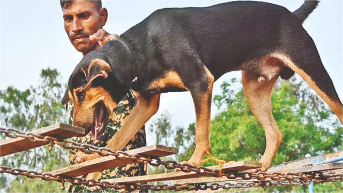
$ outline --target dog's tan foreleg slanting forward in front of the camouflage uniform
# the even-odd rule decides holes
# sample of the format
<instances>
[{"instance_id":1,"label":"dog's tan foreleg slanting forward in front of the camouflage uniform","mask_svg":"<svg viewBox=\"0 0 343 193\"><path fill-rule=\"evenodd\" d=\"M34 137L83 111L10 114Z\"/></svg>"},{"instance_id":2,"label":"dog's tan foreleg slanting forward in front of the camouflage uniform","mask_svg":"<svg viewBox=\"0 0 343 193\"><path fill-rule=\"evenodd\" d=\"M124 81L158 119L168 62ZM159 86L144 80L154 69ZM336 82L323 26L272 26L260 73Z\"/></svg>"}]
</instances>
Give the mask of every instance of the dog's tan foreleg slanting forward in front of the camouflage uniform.
<instances>
[{"instance_id":1,"label":"dog's tan foreleg slanting forward in front of the camouflage uniform","mask_svg":"<svg viewBox=\"0 0 343 193\"><path fill-rule=\"evenodd\" d=\"M125 118L125 123L122 128L106 143L106 148L113 151L121 150L132 139L140 128L154 115L159 106L160 94L155 94L151 97L150 101L138 92L134 91L137 99L136 105L130 112L130 115Z\"/></svg>"}]
</instances>

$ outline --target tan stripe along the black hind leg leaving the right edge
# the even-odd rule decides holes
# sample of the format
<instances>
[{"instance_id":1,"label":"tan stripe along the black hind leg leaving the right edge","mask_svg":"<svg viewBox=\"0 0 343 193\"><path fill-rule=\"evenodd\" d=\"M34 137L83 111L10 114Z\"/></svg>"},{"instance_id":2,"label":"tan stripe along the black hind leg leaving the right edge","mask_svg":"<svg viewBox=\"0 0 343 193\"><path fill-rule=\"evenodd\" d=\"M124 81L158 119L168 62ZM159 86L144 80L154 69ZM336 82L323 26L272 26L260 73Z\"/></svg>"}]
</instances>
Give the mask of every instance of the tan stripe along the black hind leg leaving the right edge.
<instances>
[{"instance_id":1,"label":"tan stripe along the black hind leg leaving the right edge","mask_svg":"<svg viewBox=\"0 0 343 193\"><path fill-rule=\"evenodd\" d=\"M338 101L331 100L324 91L320 90L320 88L317 86L316 82L312 80L312 78L302 69L298 68L294 62L285 54L275 52L270 54L273 57L277 57L281 59L286 66L288 66L290 69L292 69L294 72L296 72L298 75L300 75L307 84L326 102L326 104L332 109L332 111L337 115L340 122L343 124L343 110L342 105L339 104Z\"/></svg>"}]
</instances>

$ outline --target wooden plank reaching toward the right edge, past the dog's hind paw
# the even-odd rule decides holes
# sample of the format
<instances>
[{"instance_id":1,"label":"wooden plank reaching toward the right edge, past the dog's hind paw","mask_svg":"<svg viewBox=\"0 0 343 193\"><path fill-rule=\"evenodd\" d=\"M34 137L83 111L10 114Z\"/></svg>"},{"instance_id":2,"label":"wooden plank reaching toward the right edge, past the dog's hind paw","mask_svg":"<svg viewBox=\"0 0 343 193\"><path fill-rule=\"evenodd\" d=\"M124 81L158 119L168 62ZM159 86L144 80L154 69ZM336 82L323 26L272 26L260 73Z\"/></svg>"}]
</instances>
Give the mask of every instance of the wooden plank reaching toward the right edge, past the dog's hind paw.
<instances>
[{"instance_id":1,"label":"wooden plank reaching toward the right edge, past the dog's hind paw","mask_svg":"<svg viewBox=\"0 0 343 193\"><path fill-rule=\"evenodd\" d=\"M343 168L343 163L327 163L327 164L321 164L321 165L313 165L313 166L306 166L306 167L301 167L301 168L284 170L282 173L288 173L288 172L298 173L298 172L327 171L327 170L332 170L332 171L337 172L337 169L341 170L342 168ZM273 171L273 172L277 172L277 171ZM234 180L237 180L237 179L227 179L227 177L202 177L202 178L175 180L175 181L172 181L172 184L211 183L211 182L234 181ZM241 180L242 179L239 178L237 181L241 181ZM263 181L270 181L270 180L272 179L266 178ZM261 180L250 179L250 180L244 180L244 181L261 181Z\"/></svg>"}]
</instances>

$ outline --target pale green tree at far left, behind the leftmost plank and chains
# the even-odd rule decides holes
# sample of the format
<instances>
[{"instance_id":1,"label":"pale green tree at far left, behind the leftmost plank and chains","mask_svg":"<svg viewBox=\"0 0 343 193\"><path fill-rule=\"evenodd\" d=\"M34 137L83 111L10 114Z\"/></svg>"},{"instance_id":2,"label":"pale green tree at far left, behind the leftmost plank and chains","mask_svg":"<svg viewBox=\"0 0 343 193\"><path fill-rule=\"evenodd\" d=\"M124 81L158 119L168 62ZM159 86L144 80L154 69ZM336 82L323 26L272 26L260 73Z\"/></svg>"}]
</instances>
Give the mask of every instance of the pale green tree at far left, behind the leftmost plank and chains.
<instances>
[{"instance_id":1,"label":"pale green tree at far left, behind the leftmost plank and chains","mask_svg":"<svg viewBox=\"0 0 343 193\"><path fill-rule=\"evenodd\" d=\"M28 132L55 122L66 122L67 114L61 105L65 86L60 83L57 70L43 69L39 86L21 91L12 86L0 91L0 124ZM5 135L1 135L5 139ZM1 165L14 168L48 172L68 164L68 151L55 146L48 151L39 147L1 158ZM54 181L30 179L23 176L2 174L1 189L14 192L56 192L61 184Z\"/></svg>"}]
</instances>

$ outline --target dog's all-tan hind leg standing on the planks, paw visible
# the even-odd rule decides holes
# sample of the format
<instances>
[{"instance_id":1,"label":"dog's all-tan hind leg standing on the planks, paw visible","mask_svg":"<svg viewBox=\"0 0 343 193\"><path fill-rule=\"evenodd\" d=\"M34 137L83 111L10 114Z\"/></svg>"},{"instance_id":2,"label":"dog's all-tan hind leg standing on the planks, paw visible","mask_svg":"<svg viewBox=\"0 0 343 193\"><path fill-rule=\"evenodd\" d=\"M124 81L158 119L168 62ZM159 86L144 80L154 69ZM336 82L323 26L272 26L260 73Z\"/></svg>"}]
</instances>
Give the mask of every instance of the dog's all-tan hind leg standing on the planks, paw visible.
<instances>
[{"instance_id":1,"label":"dog's all-tan hind leg standing on the planks, paw visible","mask_svg":"<svg viewBox=\"0 0 343 193\"><path fill-rule=\"evenodd\" d=\"M271 113L271 91L278 75L270 80L259 81L259 75L251 71L243 71L242 83L251 111L264 129L266 135L266 149L260 160L262 170L270 167L277 148L282 141L282 134L278 129Z\"/></svg>"}]
</instances>

